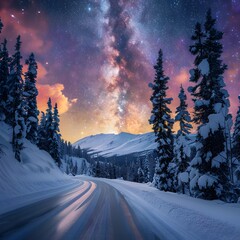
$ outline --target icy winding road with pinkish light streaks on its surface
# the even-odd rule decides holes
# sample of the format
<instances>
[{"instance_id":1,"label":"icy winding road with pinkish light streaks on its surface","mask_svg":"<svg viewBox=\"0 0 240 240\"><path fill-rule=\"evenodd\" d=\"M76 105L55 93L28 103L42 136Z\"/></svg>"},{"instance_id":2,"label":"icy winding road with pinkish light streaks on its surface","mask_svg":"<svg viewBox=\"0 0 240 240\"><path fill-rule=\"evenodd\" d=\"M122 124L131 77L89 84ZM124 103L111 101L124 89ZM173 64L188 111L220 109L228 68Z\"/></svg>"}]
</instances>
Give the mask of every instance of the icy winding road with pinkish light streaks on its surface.
<instances>
[{"instance_id":1,"label":"icy winding road with pinkish light streaks on its surface","mask_svg":"<svg viewBox=\"0 0 240 240\"><path fill-rule=\"evenodd\" d=\"M181 239L168 230L157 233L117 189L99 180L0 216L0 239Z\"/></svg>"}]
</instances>

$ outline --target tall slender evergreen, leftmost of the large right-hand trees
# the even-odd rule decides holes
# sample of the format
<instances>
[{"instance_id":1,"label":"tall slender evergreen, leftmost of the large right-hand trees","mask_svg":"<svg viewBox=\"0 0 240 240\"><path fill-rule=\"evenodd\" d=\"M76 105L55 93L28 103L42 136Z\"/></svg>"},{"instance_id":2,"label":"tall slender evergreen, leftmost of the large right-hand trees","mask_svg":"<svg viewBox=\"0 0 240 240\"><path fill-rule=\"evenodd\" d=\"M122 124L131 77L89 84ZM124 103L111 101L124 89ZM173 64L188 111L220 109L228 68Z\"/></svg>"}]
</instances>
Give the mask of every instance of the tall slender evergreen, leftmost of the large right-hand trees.
<instances>
[{"instance_id":1,"label":"tall slender evergreen, leftmost of the large right-hand trees","mask_svg":"<svg viewBox=\"0 0 240 240\"><path fill-rule=\"evenodd\" d=\"M166 97L169 78L164 75L162 57L160 50L157 64L154 66L156 70L154 83L149 84L153 90L150 98L153 109L149 122L153 125L155 141L158 143L153 183L160 190L173 191L173 176L169 171L169 164L173 159L173 120L168 107L172 98Z\"/></svg>"}]
</instances>

